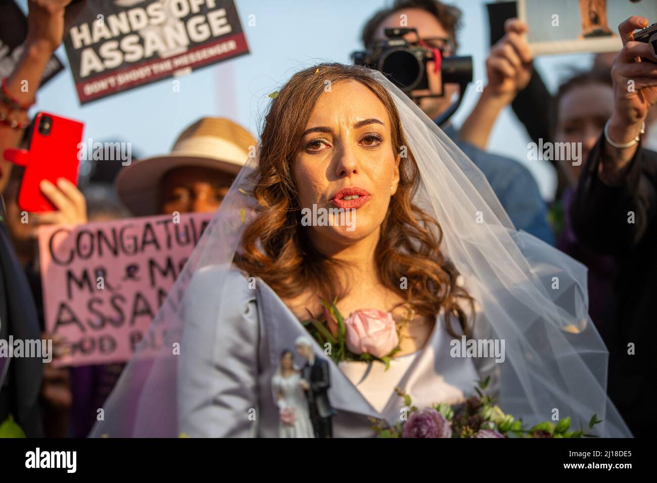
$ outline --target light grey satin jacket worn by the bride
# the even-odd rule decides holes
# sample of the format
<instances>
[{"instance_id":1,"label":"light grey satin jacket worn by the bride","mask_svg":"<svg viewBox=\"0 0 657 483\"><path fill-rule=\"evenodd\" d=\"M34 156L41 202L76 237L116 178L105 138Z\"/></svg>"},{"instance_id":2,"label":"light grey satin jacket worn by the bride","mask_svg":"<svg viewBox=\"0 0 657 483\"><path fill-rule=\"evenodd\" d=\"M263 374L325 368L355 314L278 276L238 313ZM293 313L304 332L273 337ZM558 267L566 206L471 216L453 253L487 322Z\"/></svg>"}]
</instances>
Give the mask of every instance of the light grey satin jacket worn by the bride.
<instances>
[{"instance_id":1,"label":"light grey satin jacket worn by the bride","mask_svg":"<svg viewBox=\"0 0 657 483\"><path fill-rule=\"evenodd\" d=\"M223 294L218 294L217 273L212 267L202 269L187 290L177 375L179 430L191 437L277 438L279 408L271 378L283 350L293 350L294 340L307 331L261 279L249 288L244 275L233 269ZM474 394L476 380L495 369L493 359L451 357L452 337L442 317L437 322L430 340L396 384L418 407L463 400ZM315 352L323 354L323 348L314 340L313 344ZM334 437L374 436L368 417L390 425L399 421L402 398L391 392L378 413L338 365L326 359L328 397L336 410Z\"/></svg>"}]
</instances>

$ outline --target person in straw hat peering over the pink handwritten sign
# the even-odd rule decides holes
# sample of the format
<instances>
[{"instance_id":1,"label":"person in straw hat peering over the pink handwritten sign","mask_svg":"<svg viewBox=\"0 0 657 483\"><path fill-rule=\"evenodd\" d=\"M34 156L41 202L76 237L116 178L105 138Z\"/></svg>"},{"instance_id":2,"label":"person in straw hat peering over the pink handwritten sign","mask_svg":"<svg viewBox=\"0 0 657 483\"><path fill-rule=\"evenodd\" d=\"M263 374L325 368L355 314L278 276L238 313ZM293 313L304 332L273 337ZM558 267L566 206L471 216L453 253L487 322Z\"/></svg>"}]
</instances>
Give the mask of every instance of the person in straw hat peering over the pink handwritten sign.
<instances>
[{"instance_id":1,"label":"person in straw hat peering over the pink handwritten sign","mask_svg":"<svg viewBox=\"0 0 657 483\"><path fill-rule=\"evenodd\" d=\"M256 139L225 118L201 118L187 127L170 154L126 166L116 192L135 216L214 212Z\"/></svg>"}]
</instances>

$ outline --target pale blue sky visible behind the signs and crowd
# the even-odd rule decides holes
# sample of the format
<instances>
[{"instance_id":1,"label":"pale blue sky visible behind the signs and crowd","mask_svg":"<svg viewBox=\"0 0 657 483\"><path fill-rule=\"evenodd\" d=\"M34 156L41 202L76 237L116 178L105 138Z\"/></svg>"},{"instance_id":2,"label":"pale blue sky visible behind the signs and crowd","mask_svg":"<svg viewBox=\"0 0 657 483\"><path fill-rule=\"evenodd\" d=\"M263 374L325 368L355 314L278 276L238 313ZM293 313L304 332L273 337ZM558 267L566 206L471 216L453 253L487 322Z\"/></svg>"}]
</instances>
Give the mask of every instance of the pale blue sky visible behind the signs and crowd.
<instances>
[{"instance_id":1,"label":"pale blue sky visible behind the signs and crowd","mask_svg":"<svg viewBox=\"0 0 657 483\"><path fill-rule=\"evenodd\" d=\"M93 1L93 0L88 0ZM24 6L26 0L20 0ZM359 49L359 32L365 20L386 0L236 0L250 55L202 68L179 78L173 92L171 79L158 81L80 106L68 68L45 85L38 95L38 110L55 112L85 122L85 139L132 143L141 156L164 154L183 128L202 116L232 118L256 133L267 95L300 68L316 62L350 62ZM463 11L459 34L461 55L474 58L474 79L486 82L488 53L487 14L482 0L453 2ZM250 14L256 25L248 26ZM58 56L66 63L63 47ZM550 89L573 67L587 68L591 55L564 55L537 59L535 65ZM474 85L453 120L460 125L476 102ZM542 115L542 114L541 114ZM551 196L555 174L547 162L528 161L530 140L507 110L498 120L489 150L523 162L535 175L541 192Z\"/></svg>"}]
</instances>

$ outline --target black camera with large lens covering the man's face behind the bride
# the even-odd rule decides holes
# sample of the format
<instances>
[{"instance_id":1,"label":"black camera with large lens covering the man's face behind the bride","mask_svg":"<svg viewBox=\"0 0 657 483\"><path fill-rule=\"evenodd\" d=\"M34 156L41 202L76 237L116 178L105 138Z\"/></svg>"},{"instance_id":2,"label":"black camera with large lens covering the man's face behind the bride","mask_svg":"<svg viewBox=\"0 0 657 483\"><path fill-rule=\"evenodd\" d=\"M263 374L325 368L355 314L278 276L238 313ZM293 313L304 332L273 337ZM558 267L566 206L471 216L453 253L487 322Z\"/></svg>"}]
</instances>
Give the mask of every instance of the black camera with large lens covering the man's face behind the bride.
<instances>
[{"instance_id":1,"label":"black camera with large lens covering the man's face behind the bride","mask_svg":"<svg viewBox=\"0 0 657 483\"><path fill-rule=\"evenodd\" d=\"M367 66L385 74L410 97L411 91L429 89L426 64L435 59L432 49L411 45L403 38L409 32L415 32L417 35L415 28L386 28L384 33L387 39L376 43L372 51L357 51L352 57L354 64ZM472 57L456 55L442 57L440 72L442 74L440 94L413 96L413 99L442 97L446 83L457 83L463 90L472 82Z\"/></svg>"}]
</instances>

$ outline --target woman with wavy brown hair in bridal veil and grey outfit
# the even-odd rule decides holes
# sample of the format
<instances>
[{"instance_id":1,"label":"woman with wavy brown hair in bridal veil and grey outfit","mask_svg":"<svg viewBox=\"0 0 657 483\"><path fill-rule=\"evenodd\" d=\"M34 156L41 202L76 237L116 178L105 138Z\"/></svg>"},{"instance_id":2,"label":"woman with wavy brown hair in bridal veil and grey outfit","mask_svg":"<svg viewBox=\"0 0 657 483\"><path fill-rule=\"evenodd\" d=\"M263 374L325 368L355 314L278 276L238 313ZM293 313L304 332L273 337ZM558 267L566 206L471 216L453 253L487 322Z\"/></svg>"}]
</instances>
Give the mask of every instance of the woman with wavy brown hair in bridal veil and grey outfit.
<instances>
[{"instance_id":1,"label":"woman with wavy brown hair in bridal veil and grey outfit","mask_svg":"<svg viewBox=\"0 0 657 483\"><path fill-rule=\"evenodd\" d=\"M595 434L631 436L606 396L585 267L516 231L484 175L380 72L298 72L255 152L150 325L162 346L135 354L91 436L279 436L272 375L318 296L345 315L415 313L398 370L373 371L369 389L348 377L359 362L328 361L334 437L373 436L371 417L394 425L395 387L423 407L485 377L527 426L595 414ZM355 227L307 226L313 205L355 208ZM451 356L462 336L503 340L504 357Z\"/></svg>"}]
</instances>

